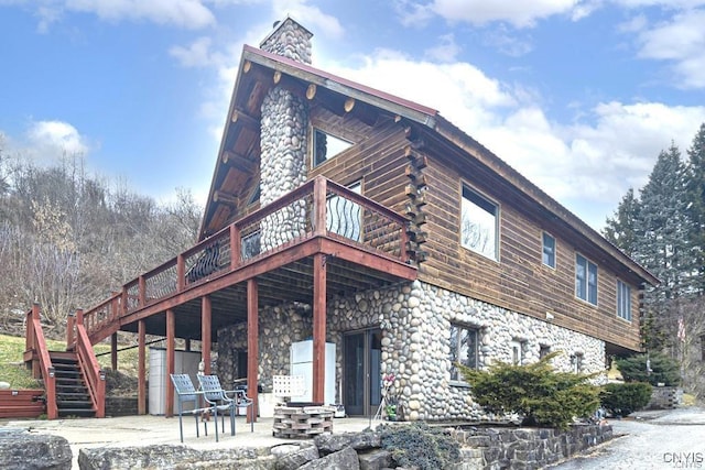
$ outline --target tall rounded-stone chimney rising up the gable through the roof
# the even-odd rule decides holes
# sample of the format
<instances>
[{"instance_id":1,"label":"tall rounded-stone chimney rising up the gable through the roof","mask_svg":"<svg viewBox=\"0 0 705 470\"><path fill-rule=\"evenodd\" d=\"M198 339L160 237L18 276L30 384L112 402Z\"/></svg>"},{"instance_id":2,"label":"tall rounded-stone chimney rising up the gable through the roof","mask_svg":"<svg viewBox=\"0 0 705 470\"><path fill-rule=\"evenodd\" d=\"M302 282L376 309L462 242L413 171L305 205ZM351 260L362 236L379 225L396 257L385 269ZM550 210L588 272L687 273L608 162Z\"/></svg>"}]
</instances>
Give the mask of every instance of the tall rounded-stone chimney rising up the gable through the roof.
<instances>
[{"instance_id":1,"label":"tall rounded-stone chimney rising up the gable through the roof","mask_svg":"<svg viewBox=\"0 0 705 470\"><path fill-rule=\"evenodd\" d=\"M286 18L275 24L260 44L263 51L311 64L313 34ZM267 205L291 193L306 182L308 175L308 101L279 85L274 86L261 107L260 121L260 203ZM303 200L293 203L279 214L262 220L261 247L270 250L301 236L306 229Z\"/></svg>"}]
</instances>

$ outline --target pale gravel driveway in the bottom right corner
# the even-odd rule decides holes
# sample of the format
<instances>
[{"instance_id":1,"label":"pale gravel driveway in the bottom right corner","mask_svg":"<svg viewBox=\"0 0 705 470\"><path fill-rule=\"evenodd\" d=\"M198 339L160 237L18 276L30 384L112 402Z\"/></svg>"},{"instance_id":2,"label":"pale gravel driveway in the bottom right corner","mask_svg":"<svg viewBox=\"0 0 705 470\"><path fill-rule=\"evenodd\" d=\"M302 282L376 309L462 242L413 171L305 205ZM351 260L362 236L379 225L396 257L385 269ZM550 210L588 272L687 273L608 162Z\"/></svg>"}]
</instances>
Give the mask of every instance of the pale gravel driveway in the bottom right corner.
<instances>
[{"instance_id":1,"label":"pale gravel driveway in the bottom right corner","mask_svg":"<svg viewBox=\"0 0 705 470\"><path fill-rule=\"evenodd\" d=\"M639 412L609 424L619 437L551 469L705 469L703 408Z\"/></svg>"}]
</instances>

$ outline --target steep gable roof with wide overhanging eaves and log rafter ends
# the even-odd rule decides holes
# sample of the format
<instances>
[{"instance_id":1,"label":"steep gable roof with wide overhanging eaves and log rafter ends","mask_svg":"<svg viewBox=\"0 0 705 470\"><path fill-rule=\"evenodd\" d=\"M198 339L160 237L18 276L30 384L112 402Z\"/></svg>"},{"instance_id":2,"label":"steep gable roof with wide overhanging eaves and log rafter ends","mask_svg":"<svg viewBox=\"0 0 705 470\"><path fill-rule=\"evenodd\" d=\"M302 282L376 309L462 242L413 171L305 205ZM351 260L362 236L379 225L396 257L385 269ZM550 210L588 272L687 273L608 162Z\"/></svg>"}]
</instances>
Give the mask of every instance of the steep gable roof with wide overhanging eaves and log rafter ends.
<instances>
[{"instance_id":1,"label":"steep gable roof with wide overhanging eaves and log rafter ends","mask_svg":"<svg viewBox=\"0 0 705 470\"><path fill-rule=\"evenodd\" d=\"M248 45L242 50L202 222L200 239L224 227L234 216L231 211L236 201L224 200L229 197L227 195L246 197L257 190L260 107L267 91L274 85L297 90L308 98L313 98L313 95L317 102L325 102L325 106L339 114L347 112L344 105L354 100L352 111L370 123L380 119L403 119L413 123L425 138L456 149L465 159L474 159L499 184L511 187L520 198L536 205L543 217L552 219L552 223L561 226L564 232L594 245L604 256L596 261L614 261L622 266L620 271L626 269L649 284L659 284L653 274L435 109Z\"/></svg>"}]
</instances>

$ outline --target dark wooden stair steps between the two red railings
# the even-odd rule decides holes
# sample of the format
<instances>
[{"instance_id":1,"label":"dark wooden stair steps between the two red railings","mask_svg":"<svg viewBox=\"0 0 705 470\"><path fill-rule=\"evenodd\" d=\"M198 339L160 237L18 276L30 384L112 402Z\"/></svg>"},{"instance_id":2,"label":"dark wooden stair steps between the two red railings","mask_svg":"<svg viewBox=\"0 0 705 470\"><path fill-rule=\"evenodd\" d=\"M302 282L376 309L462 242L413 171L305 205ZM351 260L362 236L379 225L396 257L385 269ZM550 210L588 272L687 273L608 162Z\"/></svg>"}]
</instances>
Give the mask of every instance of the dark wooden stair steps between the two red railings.
<instances>
[{"instance_id":1,"label":"dark wooden stair steps between the two red railings","mask_svg":"<svg viewBox=\"0 0 705 470\"><path fill-rule=\"evenodd\" d=\"M78 354L66 351L48 351L54 365L56 407L58 417L95 417L96 408L88 393L88 385L80 372Z\"/></svg>"}]
</instances>

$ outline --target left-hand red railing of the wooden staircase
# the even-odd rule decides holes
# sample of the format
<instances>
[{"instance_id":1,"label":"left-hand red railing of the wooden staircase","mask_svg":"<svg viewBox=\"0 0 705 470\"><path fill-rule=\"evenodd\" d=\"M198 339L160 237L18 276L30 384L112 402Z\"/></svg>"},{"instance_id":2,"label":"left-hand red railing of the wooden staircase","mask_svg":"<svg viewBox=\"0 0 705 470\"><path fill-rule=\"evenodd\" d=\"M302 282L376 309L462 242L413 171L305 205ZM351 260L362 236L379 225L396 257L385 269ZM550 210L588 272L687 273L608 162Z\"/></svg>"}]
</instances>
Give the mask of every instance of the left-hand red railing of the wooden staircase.
<instances>
[{"instance_id":1,"label":"left-hand red railing of the wooden staircase","mask_svg":"<svg viewBox=\"0 0 705 470\"><path fill-rule=\"evenodd\" d=\"M56 378L52 359L48 356L46 339L42 330L40 305L32 305L32 309L26 314L26 337L25 337L24 361L32 362L32 376L44 380L44 391L46 394L46 417L56 419L58 407L56 406Z\"/></svg>"}]
</instances>

